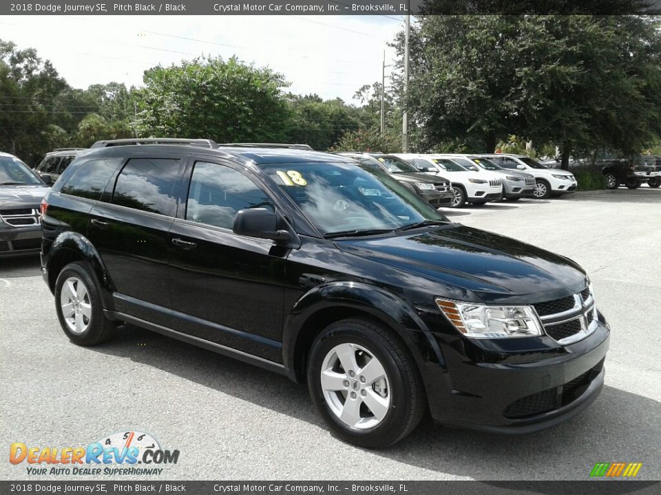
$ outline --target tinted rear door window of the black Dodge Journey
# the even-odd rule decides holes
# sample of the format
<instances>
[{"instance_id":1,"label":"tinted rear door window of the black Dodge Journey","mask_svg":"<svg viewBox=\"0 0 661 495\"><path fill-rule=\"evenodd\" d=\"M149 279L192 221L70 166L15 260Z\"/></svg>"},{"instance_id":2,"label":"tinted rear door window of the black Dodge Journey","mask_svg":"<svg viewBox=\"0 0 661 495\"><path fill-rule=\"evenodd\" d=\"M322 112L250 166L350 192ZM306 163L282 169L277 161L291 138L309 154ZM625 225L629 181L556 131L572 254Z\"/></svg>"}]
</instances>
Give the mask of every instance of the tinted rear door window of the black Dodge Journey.
<instances>
[{"instance_id":1,"label":"tinted rear door window of the black Dodge Journey","mask_svg":"<svg viewBox=\"0 0 661 495\"><path fill-rule=\"evenodd\" d=\"M179 159L129 159L117 177L112 203L174 217L180 169Z\"/></svg>"}]
</instances>

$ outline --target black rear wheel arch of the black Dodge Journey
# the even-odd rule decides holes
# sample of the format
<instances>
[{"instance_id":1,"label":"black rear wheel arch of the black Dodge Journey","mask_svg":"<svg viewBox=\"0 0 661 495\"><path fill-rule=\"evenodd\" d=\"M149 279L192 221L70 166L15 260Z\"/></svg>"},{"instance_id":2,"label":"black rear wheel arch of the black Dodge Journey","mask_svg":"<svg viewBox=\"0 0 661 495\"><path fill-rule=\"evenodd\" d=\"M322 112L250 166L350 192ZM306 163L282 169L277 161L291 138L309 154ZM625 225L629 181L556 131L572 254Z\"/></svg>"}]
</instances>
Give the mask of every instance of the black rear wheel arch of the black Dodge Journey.
<instances>
[{"instance_id":1,"label":"black rear wheel arch of the black Dodge Journey","mask_svg":"<svg viewBox=\"0 0 661 495\"><path fill-rule=\"evenodd\" d=\"M53 241L48 262L45 265L51 289L54 290L55 280L59 272L72 259L82 259L90 263L92 272L98 281L98 289L103 300L103 307L110 310L114 309L112 293L115 291L115 287L103 261L101 261L101 256L99 256L98 251L96 251L90 240L77 232L62 232Z\"/></svg>"}]
</instances>

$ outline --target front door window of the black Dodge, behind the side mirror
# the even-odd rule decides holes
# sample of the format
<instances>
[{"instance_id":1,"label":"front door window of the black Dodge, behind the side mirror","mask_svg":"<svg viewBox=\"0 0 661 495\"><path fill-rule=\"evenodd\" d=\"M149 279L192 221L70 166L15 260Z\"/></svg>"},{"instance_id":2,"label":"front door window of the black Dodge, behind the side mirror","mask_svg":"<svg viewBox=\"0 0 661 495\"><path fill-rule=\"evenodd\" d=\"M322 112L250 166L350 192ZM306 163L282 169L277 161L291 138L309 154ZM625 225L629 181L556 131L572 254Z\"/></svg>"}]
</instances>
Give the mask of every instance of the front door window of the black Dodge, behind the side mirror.
<instances>
[{"instance_id":1,"label":"front door window of the black Dodge, behind the side mirror","mask_svg":"<svg viewBox=\"0 0 661 495\"><path fill-rule=\"evenodd\" d=\"M224 165L197 162L186 205L186 219L231 229L239 210L271 208L271 200L242 173Z\"/></svg>"}]
</instances>

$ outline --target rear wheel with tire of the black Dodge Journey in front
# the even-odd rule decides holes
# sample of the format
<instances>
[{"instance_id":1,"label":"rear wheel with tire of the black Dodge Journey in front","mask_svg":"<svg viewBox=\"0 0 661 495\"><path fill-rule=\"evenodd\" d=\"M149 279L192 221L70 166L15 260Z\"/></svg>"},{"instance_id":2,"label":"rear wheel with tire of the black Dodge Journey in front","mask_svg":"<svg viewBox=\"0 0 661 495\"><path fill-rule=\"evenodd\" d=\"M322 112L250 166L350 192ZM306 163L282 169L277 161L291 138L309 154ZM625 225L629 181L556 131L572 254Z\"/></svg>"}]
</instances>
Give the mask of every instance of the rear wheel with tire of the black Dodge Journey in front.
<instances>
[{"instance_id":1,"label":"rear wheel with tire of the black Dodge Journey in front","mask_svg":"<svg viewBox=\"0 0 661 495\"><path fill-rule=\"evenodd\" d=\"M65 284L67 285L66 288L64 287ZM73 292L71 287L73 287ZM63 292L65 293L64 296ZM74 314L65 316L63 300L67 298L71 301ZM78 303L74 299L77 299ZM115 324L105 318L103 314L103 305L101 304L101 296L98 293L96 276L94 276L90 265L83 261L66 265L57 276L55 282L55 309L64 333L74 344L81 346L100 344L108 340L115 329ZM81 325L78 325L78 316L81 318ZM74 321L67 321L67 317L74 318Z\"/></svg>"}]
</instances>

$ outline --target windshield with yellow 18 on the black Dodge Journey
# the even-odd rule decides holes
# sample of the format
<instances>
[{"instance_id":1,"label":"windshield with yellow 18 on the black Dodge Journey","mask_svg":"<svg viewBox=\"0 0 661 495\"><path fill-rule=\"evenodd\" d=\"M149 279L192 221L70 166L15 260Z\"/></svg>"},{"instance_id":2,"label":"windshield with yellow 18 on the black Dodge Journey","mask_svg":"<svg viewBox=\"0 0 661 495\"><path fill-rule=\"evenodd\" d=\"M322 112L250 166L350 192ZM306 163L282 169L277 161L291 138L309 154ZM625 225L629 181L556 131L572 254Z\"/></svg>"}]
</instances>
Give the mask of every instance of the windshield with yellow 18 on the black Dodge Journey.
<instances>
[{"instance_id":1,"label":"windshield with yellow 18 on the black Dodge Journey","mask_svg":"<svg viewBox=\"0 0 661 495\"><path fill-rule=\"evenodd\" d=\"M273 164L264 171L324 236L376 234L448 222L386 173L345 163Z\"/></svg>"}]
</instances>

